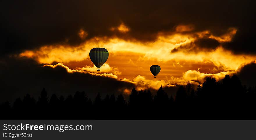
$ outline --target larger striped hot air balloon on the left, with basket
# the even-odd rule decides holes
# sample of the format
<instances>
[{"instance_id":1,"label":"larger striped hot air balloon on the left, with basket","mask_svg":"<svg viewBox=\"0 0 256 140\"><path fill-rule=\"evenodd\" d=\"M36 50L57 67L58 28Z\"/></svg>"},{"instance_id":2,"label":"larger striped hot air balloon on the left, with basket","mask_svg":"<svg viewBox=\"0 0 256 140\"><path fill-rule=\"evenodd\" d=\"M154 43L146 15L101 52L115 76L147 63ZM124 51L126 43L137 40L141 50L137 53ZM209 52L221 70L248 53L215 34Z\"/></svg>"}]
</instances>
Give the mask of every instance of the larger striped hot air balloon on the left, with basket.
<instances>
[{"instance_id":1,"label":"larger striped hot air balloon on the left, with basket","mask_svg":"<svg viewBox=\"0 0 256 140\"><path fill-rule=\"evenodd\" d=\"M100 67L108 60L109 52L105 48L93 48L90 50L90 59L100 71Z\"/></svg>"}]
</instances>

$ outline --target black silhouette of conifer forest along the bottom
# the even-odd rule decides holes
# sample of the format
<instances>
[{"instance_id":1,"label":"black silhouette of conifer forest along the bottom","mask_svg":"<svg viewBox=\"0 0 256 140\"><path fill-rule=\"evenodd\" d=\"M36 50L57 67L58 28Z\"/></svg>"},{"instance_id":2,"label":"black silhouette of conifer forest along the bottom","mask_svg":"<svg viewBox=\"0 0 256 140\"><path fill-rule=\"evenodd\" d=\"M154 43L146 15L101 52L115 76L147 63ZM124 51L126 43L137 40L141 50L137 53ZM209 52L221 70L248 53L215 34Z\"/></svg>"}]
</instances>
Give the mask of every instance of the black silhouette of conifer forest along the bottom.
<instances>
[{"instance_id":1,"label":"black silhouette of conifer forest along the bottom","mask_svg":"<svg viewBox=\"0 0 256 140\"><path fill-rule=\"evenodd\" d=\"M91 100L77 91L74 96L48 97L42 89L36 101L29 94L11 105L1 104L1 119L256 119L255 87L246 87L236 75L220 81L207 77L202 86L190 82L168 96L161 86L150 90L132 89L129 100L100 93Z\"/></svg>"}]
</instances>

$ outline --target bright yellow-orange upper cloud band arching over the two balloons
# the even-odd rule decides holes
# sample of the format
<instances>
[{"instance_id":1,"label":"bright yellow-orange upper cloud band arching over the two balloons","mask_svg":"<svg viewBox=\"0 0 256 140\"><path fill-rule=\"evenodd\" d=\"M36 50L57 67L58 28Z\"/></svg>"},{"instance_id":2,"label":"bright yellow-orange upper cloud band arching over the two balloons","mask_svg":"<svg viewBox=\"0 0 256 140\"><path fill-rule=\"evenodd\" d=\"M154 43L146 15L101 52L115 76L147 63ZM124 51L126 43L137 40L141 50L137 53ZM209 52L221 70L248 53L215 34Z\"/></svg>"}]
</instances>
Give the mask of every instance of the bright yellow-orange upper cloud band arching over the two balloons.
<instances>
[{"instance_id":1,"label":"bright yellow-orange upper cloud band arching over the two balloons","mask_svg":"<svg viewBox=\"0 0 256 140\"><path fill-rule=\"evenodd\" d=\"M198 62L209 60L214 62L214 64L218 67L220 65L224 65L224 67L227 67L227 69L231 70L234 70L242 63L245 63L244 61L250 62L252 59L256 58L254 55L235 55L232 53L232 51L225 50L222 46L219 46L217 40L211 39L209 37L198 39L194 36L195 35L159 34L159 37L156 41L147 43L126 41L117 37L94 37L76 47L62 45L43 46L40 49L34 51L24 51L20 54L20 56L34 58L40 63L47 64L52 62L63 63L70 61L82 61L88 58L90 49L94 47L104 47L110 53L114 54L114 56L115 53L118 52L131 52L140 54L140 59L144 60L193 60ZM202 37L205 37L205 35ZM159 46L161 46L161 48L159 48ZM210 50L204 51L201 48L208 48ZM183 51L173 51L175 49L181 49ZM196 49L197 52L193 53ZM244 60L244 58L248 59L248 61ZM230 60L237 62L235 68L233 66L234 62L228 62ZM230 64L232 64L232 66L229 66Z\"/></svg>"}]
</instances>

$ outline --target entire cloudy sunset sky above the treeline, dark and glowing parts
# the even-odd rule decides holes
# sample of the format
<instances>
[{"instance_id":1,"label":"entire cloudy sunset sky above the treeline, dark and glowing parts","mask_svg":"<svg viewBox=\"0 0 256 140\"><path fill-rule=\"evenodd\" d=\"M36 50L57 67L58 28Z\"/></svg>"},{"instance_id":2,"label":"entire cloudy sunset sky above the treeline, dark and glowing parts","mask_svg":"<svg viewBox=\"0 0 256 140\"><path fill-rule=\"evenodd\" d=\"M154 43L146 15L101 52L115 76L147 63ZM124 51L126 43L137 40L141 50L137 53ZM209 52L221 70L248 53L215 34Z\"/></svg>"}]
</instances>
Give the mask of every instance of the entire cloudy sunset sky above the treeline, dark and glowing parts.
<instances>
[{"instance_id":1,"label":"entire cloudy sunset sky above the treeline, dark and glowing parts","mask_svg":"<svg viewBox=\"0 0 256 140\"><path fill-rule=\"evenodd\" d=\"M42 87L129 96L132 87L173 94L236 74L255 86L252 1L1 1L1 100ZM109 51L97 71L89 52ZM161 67L157 78L151 65Z\"/></svg>"}]
</instances>

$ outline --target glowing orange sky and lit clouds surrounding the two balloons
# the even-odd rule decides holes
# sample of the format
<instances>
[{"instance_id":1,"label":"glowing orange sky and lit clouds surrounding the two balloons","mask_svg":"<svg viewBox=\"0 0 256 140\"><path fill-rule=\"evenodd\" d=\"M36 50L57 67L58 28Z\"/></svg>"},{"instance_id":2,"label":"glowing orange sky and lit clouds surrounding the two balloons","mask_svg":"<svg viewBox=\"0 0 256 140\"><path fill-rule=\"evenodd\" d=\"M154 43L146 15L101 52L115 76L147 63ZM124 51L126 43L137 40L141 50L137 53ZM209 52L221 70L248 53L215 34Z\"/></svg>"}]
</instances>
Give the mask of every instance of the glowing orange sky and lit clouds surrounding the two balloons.
<instances>
[{"instance_id":1,"label":"glowing orange sky and lit clouds surrounding the two balloons","mask_svg":"<svg viewBox=\"0 0 256 140\"><path fill-rule=\"evenodd\" d=\"M122 23L109 30L125 34L132 29ZM228 28L220 36L212 35L209 30L191 33L193 30L193 25L179 25L175 32L159 32L157 40L151 42L124 40L115 36L93 37L79 46L52 44L37 50L26 50L19 57L33 58L40 64L46 64L45 67L55 67L52 63L58 62L68 72L108 76L135 83L138 89L158 89L160 85L170 87L183 85L188 81L197 84L202 83L206 76L214 76L219 80L225 74L232 75L243 65L256 60L255 55L236 55L223 49L221 45L212 50L189 46L198 38L210 38L219 43L230 42L237 32L236 28ZM78 36L85 39L88 33L81 29ZM188 47L182 48L184 45ZM109 51L109 58L100 72L89 58L89 51L95 47L103 47ZM191 50L192 47L194 49ZM177 48L179 51L172 52ZM150 73L151 65L161 67L157 78Z\"/></svg>"}]
</instances>

